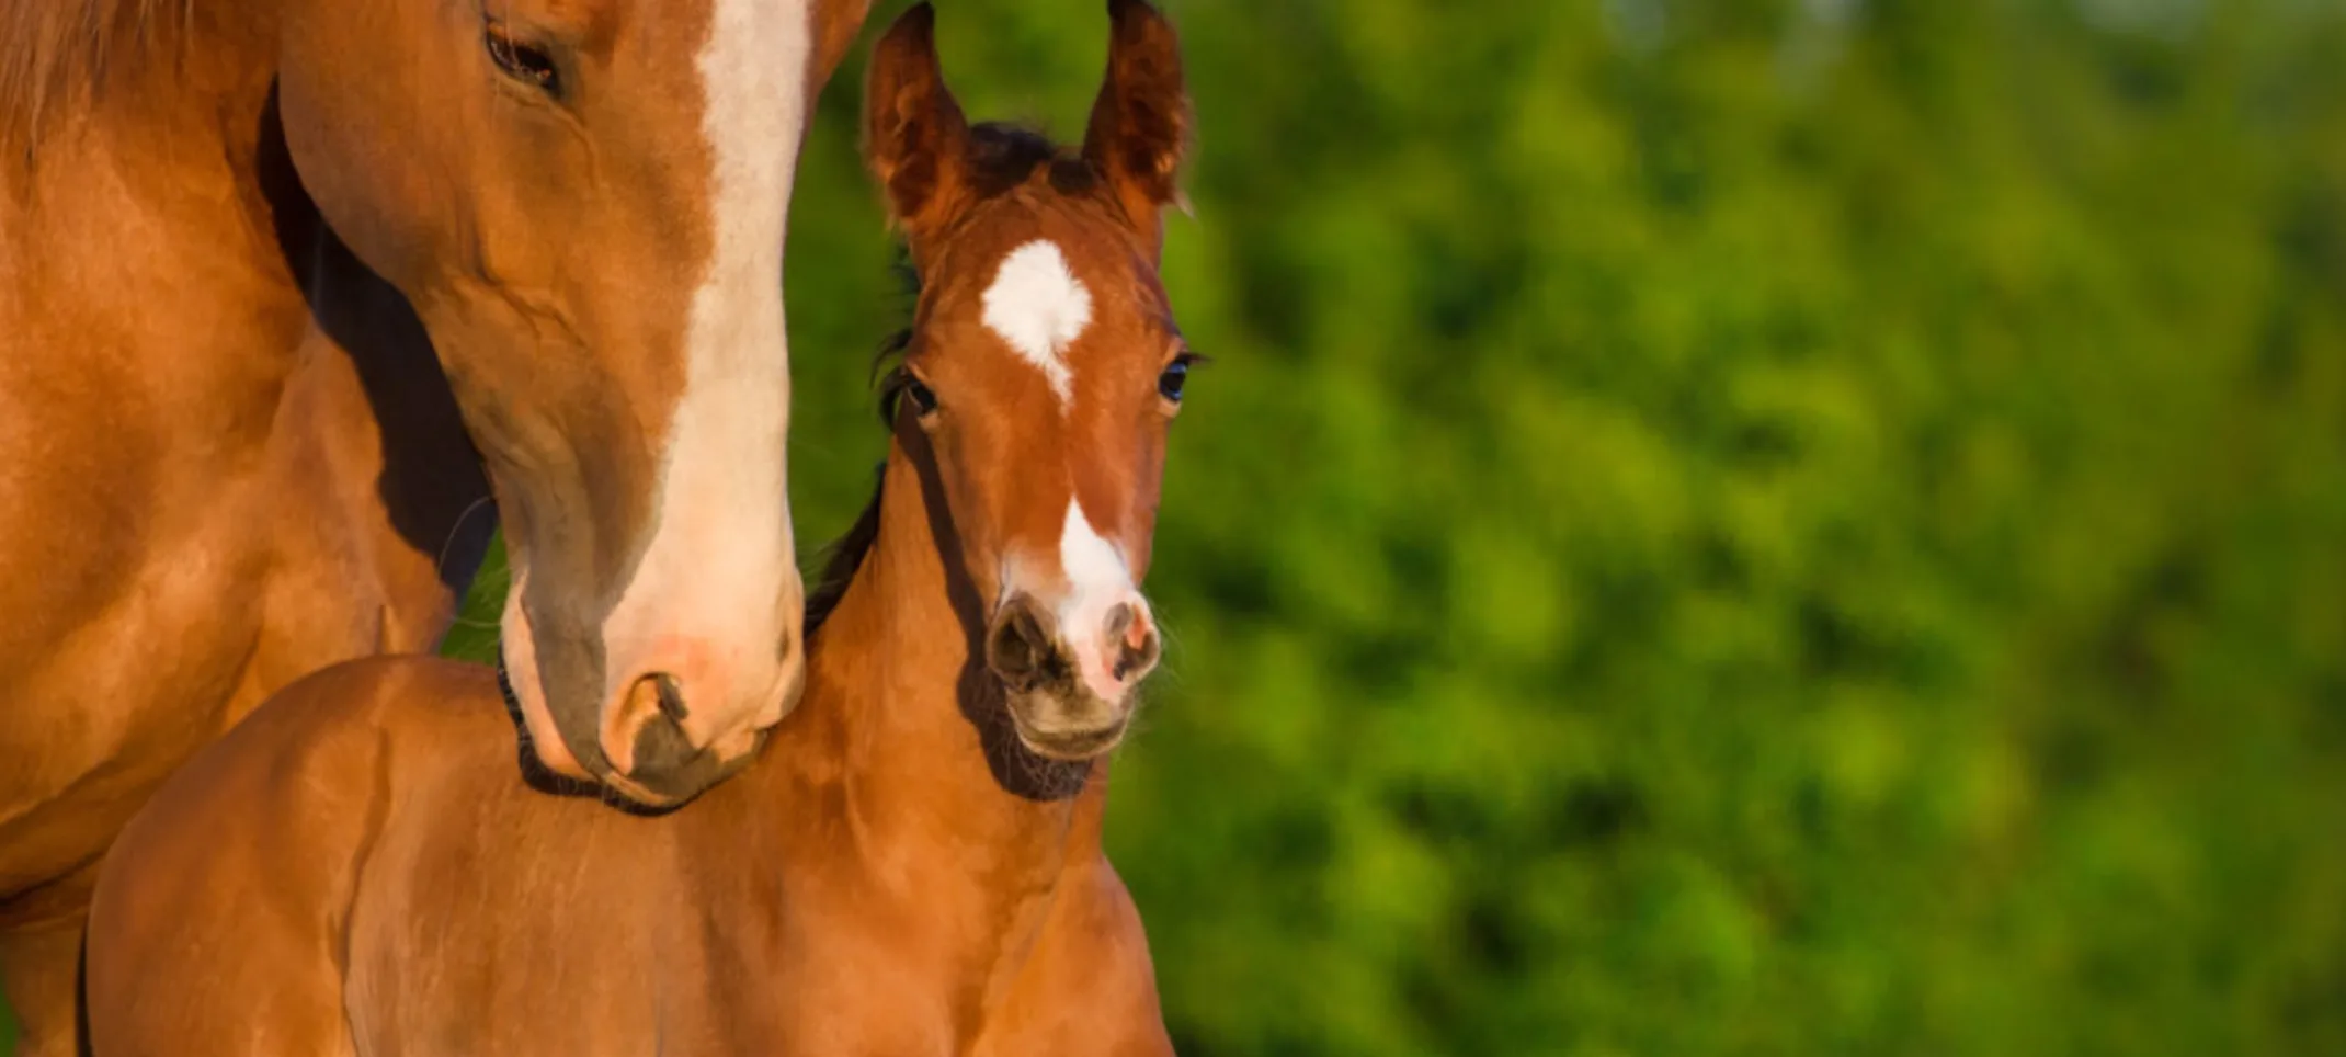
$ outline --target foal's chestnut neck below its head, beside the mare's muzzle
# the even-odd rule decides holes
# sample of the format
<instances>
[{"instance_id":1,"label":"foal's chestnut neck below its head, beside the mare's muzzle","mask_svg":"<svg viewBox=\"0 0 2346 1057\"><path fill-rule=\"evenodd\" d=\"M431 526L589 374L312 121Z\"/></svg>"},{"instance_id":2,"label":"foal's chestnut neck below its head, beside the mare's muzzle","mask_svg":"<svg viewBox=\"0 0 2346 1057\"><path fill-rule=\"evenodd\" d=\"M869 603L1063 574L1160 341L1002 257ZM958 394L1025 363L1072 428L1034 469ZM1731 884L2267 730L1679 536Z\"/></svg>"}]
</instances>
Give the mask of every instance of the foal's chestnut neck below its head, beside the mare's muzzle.
<instances>
[{"instance_id":1,"label":"foal's chestnut neck below its head, beside the mare's muzzle","mask_svg":"<svg viewBox=\"0 0 2346 1057\"><path fill-rule=\"evenodd\" d=\"M821 731L805 745L830 761L800 775L838 782L861 853L884 874L1046 897L1067 862L1098 855L1105 763L1046 761L1011 733L976 651L983 601L929 465L917 432L889 446L877 538L809 644L798 731Z\"/></svg>"}]
</instances>

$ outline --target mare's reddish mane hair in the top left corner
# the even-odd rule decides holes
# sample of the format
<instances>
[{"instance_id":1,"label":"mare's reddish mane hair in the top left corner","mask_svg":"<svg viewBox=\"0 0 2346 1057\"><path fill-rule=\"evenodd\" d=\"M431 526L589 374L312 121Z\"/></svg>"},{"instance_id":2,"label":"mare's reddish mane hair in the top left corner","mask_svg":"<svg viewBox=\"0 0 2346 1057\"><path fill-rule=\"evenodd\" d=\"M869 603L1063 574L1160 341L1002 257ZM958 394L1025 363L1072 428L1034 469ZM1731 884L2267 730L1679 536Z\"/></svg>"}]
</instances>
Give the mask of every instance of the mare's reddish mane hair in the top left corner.
<instances>
[{"instance_id":1,"label":"mare's reddish mane hair in the top left corner","mask_svg":"<svg viewBox=\"0 0 2346 1057\"><path fill-rule=\"evenodd\" d=\"M7 0L0 5L0 150L33 157L52 108L106 82L122 45L185 26L195 0ZM164 23L169 21L169 23Z\"/></svg>"}]
</instances>

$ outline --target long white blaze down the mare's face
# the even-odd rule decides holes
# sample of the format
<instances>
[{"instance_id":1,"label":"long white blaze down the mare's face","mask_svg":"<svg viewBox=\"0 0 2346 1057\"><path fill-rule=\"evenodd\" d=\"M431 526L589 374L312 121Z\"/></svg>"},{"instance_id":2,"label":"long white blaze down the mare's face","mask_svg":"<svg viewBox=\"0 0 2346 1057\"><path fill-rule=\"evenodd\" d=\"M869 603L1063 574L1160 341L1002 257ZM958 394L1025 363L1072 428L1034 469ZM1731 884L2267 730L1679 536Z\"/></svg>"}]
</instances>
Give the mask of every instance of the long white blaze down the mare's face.
<instances>
[{"instance_id":1,"label":"long white blaze down the mare's face","mask_svg":"<svg viewBox=\"0 0 2346 1057\"><path fill-rule=\"evenodd\" d=\"M676 662L694 641L687 731L781 719L781 611L798 599L784 493L791 366L781 240L805 124L807 0L708 0L697 56L711 256L692 294L685 388L659 446L657 528L603 622L605 672ZM669 644L669 646L664 646ZM701 686L690 676L699 674ZM622 693L610 686L608 693ZM739 714L755 705L755 716ZM711 712L711 714L704 714Z\"/></svg>"}]
</instances>

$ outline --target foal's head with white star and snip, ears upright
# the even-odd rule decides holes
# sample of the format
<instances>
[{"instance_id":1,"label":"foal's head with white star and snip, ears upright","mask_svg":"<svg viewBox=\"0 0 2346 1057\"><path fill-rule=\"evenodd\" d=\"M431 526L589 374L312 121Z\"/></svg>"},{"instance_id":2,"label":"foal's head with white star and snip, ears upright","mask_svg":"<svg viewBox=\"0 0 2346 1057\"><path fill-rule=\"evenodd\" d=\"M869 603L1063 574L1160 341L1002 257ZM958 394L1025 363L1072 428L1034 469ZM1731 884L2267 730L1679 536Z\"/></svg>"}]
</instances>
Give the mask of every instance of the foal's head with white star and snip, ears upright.
<instances>
[{"instance_id":1,"label":"foal's head with white star and snip, ears upright","mask_svg":"<svg viewBox=\"0 0 2346 1057\"><path fill-rule=\"evenodd\" d=\"M866 155L922 275L894 418L934 451L1018 738L1053 759L1114 747L1157 665L1138 583L1192 359L1157 282L1180 54L1145 2L1110 16L1082 155L969 127L927 5L880 42L866 101Z\"/></svg>"}]
</instances>

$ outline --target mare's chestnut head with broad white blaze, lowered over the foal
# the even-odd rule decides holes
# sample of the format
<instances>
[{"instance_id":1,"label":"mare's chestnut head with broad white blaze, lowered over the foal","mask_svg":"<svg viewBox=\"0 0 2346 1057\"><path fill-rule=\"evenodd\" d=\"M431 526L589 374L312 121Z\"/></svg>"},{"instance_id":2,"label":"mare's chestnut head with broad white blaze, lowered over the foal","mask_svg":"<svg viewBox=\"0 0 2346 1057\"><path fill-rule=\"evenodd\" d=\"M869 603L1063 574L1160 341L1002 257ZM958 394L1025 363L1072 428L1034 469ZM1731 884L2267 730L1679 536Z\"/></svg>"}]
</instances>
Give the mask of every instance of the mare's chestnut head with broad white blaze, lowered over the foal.
<instances>
[{"instance_id":1,"label":"mare's chestnut head with broad white blaze, lowered over the foal","mask_svg":"<svg viewBox=\"0 0 2346 1057\"><path fill-rule=\"evenodd\" d=\"M514 564L537 756L647 803L802 684L781 244L868 0L289 2L303 188L415 305Z\"/></svg>"}]
</instances>

